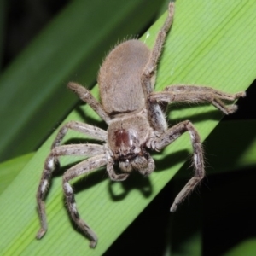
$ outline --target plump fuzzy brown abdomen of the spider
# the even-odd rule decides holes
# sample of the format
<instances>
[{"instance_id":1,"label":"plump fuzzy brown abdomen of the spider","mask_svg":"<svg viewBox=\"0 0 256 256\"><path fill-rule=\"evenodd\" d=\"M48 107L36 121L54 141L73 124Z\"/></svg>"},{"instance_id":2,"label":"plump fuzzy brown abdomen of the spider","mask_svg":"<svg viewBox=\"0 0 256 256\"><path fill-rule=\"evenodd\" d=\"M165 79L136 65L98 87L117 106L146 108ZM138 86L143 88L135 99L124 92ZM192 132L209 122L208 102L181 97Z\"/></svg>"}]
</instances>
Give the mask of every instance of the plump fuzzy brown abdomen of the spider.
<instances>
[{"instance_id":1,"label":"plump fuzzy brown abdomen of the spider","mask_svg":"<svg viewBox=\"0 0 256 256\"><path fill-rule=\"evenodd\" d=\"M98 83L102 106L108 114L129 113L144 107L141 74L149 55L148 47L133 39L119 44L103 61Z\"/></svg>"}]
</instances>

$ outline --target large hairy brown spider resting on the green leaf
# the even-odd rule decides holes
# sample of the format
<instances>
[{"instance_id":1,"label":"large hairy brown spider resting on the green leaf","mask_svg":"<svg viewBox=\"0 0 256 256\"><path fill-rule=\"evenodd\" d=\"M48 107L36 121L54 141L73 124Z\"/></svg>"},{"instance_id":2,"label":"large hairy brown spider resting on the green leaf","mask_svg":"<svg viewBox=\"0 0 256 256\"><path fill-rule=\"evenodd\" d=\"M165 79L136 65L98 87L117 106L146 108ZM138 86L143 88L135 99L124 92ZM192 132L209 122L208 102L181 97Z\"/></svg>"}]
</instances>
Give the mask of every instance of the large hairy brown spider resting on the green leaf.
<instances>
[{"instance_id":1,"label":"large hairy brown spider resting on the green leaf","mask_svg":"<svg viewBox=\"0 0 256 256\"><path fill-rule=\"evenodd\" d=\"M45 160L44 171L38 186L37 201L41 221L38 239L41 239L47 231L44 198L60 156L82 155L87 157L86 160L64 173L63 189L68 212L74 223L89 238L90 247L96 247L97 236L79 217L73 188L69 183L74 177L84 175L101 166L106 166L108 176L113 181L124 181L133 170L144 176L149 175L154 171L155 166L148 152L150 150L160 151L187 131L189 131L194 152L195 175L175 198L171 212L176 211L177 206L204 177L201 139L195 126L189 120L185 120L168 128L162 108L163 103L208 102L223 113L230 114L234 113L237 107L236 105L226 106L224 101L235 101L246 94L245 92L228 94L210 87L184 84L167 86L161 92L154 91L157 63L166 41L166 34L172 26L173 2L169 4L168 10L168 16L157 35L152 50L142 42L131 39L117 45L103 61L98 74L102 103L97 102L90 90L83 86L73 82L67 85L108 124L108 131L82 122L71 121L58 132L49 156ZM61 145L68 130L79 131L103 144ZM119 166L118 173L115 172L114 166Z\"/></svg>"}]
</instances>

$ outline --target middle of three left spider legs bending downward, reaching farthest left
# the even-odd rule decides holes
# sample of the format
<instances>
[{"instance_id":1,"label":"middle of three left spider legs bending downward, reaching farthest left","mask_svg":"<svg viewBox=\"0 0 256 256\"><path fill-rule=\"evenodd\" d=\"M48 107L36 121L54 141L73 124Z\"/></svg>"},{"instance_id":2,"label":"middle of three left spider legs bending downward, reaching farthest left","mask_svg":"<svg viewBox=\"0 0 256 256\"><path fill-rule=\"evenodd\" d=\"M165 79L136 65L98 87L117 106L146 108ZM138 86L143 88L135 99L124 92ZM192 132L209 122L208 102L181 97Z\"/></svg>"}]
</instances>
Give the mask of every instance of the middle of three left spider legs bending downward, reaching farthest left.
<instances>
[{"instance_id":1,"label":"middle of three left spider legs bending downward, reaching farthest left","mask_svg":"<svg viewBox=\"0 0 256 256\"><path fill-rule=\"evenodd\" d=\"M38 234L36 236L37 239L41 239L47 231L44 198L51 181L52 173L55 170L55 159L61 155L94 156L98 154L104 154L104 147L97 144L64 145L51 150L49 156L45 160L44 172L38 186L37 201L41 229L38 230Z\"/></svg>"}]
</instances>

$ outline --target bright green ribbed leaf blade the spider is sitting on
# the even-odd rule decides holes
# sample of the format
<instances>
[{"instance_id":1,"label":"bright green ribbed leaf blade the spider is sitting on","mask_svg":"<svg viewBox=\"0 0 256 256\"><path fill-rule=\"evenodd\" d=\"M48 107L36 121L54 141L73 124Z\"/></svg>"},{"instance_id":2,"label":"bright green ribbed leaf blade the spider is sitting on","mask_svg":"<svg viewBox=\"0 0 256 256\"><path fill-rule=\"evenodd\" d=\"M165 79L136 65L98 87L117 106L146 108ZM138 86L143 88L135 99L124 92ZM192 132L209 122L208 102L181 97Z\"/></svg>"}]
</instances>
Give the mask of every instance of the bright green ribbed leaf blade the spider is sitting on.
<instances>
[{"instance_id":1,"label":"bright green ribbed leaf blade the spider is sitting on","mask_svg":"<svg viewBox=\"0 0 256 256\"><path fill-rule=\"evenodd\" d=\"M246 90L256 75L255 11L253 1L177 1L172 32L160 61L156 89L162 90L168 84L204 84L230 93ZM143 37L149 47L152 48L165 18L166 15L161 17ZM97 88L92 91L97 94ZM170 114L173 124L182 119L192 120L202 140L218 124L221 116L212 106L174 106ZM102 125L88 106L74 110L65 122L71 119L90 124L95 120L96 125ZM39 228L35 194L55 134L39 148L0 196L0 225L5 230L0 243L3 255L102 255L183 166L188 152L191 152L189 136L184 135L160 154L154 154L156 170L148 178L134 175L125 183L111 183L102 169L75 183L80 215L99 236L99 243L92 250L88 247L88 240L68 218L59 172L46 200L49 230L42 241L34 238ZM70 132L67 140L71 137L84 141L75 132ZM74 160L63 158L62 169L67 169Z\"/></svg>"}]
</instances>

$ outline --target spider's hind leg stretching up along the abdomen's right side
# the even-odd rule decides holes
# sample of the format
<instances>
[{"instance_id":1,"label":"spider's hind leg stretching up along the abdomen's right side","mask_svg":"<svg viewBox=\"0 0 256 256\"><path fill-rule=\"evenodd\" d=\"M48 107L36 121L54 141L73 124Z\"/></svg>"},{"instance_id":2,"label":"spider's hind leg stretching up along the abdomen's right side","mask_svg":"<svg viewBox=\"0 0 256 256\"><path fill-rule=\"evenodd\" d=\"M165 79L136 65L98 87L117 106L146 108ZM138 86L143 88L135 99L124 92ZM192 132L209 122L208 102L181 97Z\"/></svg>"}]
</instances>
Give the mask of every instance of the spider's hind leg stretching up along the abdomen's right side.
<instances>
[{"instance_id":1,"label":"spider's hind leg stretching up along the abdomen's right side","mask_svg":"<svg viewBox=\"0 0 256 256\"><path fill-rule=\"evenodd\" d=\"M156 41L154 43L154 48L152 49L150 58L146 67L143 70L141 81L143 85L143 91L145 98L148 99L149 94L154 90L154 80L157 68L157 63L160 60L160 55L163 49L163 45L166 42L167 32L172 26L174 14L174 3L169 4L169 13L166 18L165 24L161 27L160 32L157 35ZM154 127L156 132L164 132L167 129L165 115L162 112L160 105L157 102L150 102L147 100L148 118L151 125Z\"/></svg>"}]
</instances>

